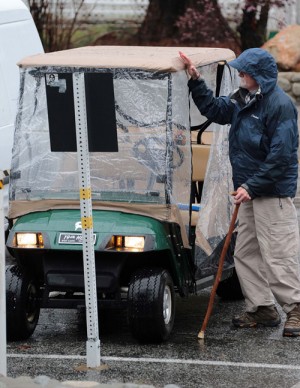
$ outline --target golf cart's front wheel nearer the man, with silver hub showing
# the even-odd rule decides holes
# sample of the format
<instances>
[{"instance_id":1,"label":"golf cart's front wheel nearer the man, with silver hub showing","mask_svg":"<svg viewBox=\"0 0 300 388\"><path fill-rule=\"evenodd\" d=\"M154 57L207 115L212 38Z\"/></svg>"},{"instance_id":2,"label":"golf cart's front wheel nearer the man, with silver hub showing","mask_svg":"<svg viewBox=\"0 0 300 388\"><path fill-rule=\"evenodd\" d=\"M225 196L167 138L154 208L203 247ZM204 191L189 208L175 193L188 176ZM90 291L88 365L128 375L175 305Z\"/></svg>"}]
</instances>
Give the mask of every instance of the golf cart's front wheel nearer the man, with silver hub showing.
<instances>
[{"instance_id":1,"label":"golf cart's front wheel nearer the man, with silver hub showing","mask_svg":"<svg viewBox=\"0 0 300 388\"><path fill-rule=\"evenodd\" d=\"M141 342L165 341L174 325L173 280L164 269L137 271L129 285L128 318L132 335Z\"/></svg>"}]
</instances>

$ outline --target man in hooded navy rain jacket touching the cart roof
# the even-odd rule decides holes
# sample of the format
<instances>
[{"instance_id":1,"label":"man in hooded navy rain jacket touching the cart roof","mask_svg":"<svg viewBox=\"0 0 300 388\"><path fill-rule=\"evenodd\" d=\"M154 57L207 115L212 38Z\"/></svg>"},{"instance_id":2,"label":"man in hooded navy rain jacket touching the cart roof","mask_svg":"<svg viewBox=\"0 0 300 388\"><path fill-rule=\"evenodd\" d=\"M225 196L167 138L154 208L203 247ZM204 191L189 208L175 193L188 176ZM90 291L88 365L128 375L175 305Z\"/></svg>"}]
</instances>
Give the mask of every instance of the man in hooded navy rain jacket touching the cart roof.
<instances>
[{"instance_id":1,"label":"man in hooded navy rain jacket touching the cart roof","mask_svg":"<svg viewBox=\"0 0 300 388\"><path fill-rule=\"evenodd\" d=\"M180 53L201 114L231 124L232 165L239 227L235 266L246 311L236 327L277 326L274 297L287 314L284 336L300 336L299 230L293 198L298 177L297 111L277 85L277 66L265 50L244 51L229 65L240 87L215 98L191 60Z\"/></svg>"}]
</instances>

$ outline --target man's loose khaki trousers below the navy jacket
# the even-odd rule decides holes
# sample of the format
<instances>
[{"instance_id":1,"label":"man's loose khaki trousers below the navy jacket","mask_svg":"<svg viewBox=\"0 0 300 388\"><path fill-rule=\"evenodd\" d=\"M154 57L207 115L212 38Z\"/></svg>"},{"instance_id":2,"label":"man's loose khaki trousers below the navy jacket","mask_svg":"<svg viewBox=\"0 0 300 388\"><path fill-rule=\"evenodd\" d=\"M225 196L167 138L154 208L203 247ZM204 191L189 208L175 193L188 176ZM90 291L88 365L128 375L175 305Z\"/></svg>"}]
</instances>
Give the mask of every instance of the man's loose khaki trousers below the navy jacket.
<instances>
[{"instance_id":1,"label":"man's loose khaki trousers below the navy jacket","mask_svg":"<svg viewBox=\"0 0 300 388\"><path fill-rule=\"evenodd\" d=\"M246 311L274 304L288 313L300 303L299 229L291 198L242 203L235 265Z\"/></svg>"}]
</instances>

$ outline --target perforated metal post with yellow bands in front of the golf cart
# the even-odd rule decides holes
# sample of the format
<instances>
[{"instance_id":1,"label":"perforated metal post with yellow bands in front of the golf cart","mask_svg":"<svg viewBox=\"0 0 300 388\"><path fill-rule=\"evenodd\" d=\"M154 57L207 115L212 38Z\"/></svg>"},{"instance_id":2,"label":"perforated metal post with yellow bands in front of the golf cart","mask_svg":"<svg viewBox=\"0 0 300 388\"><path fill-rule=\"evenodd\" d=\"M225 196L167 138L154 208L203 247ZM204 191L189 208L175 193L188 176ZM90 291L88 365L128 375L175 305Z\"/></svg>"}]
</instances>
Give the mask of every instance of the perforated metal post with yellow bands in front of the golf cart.
<instances>
[{"instance_id":1,"label":"perforated metal post with yellow bands in front of the golf cart","mask_svg":"<svg viewBox=\"0 0 300 388\"><path fill-rule=\"evenodd\" d=\"M100 366L100 340L84 73L73 73L73 89L87 320L86 355L87 367L96 368Z\"/></svg>"}]
</instances>

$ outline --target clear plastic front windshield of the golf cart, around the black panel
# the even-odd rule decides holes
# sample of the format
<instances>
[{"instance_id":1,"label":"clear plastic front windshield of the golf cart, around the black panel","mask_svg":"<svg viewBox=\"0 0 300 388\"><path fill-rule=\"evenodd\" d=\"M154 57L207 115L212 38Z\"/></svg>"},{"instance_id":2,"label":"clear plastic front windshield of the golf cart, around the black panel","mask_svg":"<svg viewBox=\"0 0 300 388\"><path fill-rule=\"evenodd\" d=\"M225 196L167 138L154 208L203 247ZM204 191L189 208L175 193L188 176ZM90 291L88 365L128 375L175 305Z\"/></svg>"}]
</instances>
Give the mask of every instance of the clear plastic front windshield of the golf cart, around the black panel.
<instances>
[{"instance_id":1,"label":"clear plastic front windshield of the golf cart, around the black panel","mask_svg":"<svg viewBox=\"0 0 300 388\"><path fill-rule=\"evenodd\" d=\"M59 73L62 80L64 72L75 69L47 68L47 73L25 69L22 74L14 200L79 199L76 152L51 152L50 148L44 78L49 71ZM85 73L97 71L85 69ZM191 167L185 73L104 71L113 74L118 152L90 154L93 199L156 204L188 201ZM64 136L62 132L62 143L68 140Z\"/></svg>"}]
</instances>

